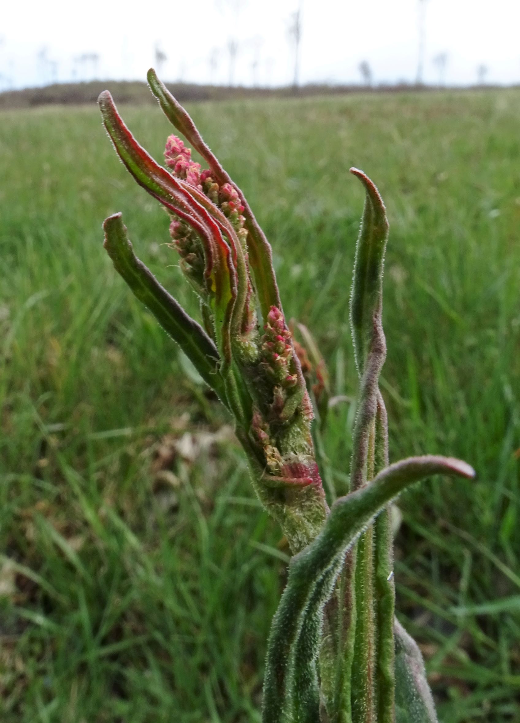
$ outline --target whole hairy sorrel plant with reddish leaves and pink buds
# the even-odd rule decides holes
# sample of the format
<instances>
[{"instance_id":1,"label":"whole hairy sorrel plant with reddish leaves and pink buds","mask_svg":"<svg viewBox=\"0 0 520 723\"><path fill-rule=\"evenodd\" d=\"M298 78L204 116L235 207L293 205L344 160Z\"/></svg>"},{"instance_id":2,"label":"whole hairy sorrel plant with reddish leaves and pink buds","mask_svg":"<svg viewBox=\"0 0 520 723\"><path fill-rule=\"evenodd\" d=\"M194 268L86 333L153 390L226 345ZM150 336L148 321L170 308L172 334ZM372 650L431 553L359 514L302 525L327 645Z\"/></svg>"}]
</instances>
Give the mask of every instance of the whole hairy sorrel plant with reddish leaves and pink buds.
<instances>
[{"instance_id":1,"label":"whole hairy sorrel plant with reddish leaves and pink buds","mask_svg":"<svg viewBox=\"0 0 520 723\"><path fill-rule=\"evenodd\" d=\"M433 455L389 464L378 388L386 356L381 307L388 236L381 196L368 176L351 169L365 187L350 299L360 381L350 492L335 500L321 443L328 407L324 361L305 327L300 345L287 326L271 247L243 193L153 70L148 82L208 168L192 160L176 135L166 142L167 168L156 163L108 91L99 98L103 122L121 161L170 216L171 246L199 297L202 324L135 256L121 213L105 220L105 249L233 417L256 495L293 553L269 637L262 720L435 721L420 651L394 618L389 505L427 476L472 478L475 472Z\"/></svg>"}]
</instances>

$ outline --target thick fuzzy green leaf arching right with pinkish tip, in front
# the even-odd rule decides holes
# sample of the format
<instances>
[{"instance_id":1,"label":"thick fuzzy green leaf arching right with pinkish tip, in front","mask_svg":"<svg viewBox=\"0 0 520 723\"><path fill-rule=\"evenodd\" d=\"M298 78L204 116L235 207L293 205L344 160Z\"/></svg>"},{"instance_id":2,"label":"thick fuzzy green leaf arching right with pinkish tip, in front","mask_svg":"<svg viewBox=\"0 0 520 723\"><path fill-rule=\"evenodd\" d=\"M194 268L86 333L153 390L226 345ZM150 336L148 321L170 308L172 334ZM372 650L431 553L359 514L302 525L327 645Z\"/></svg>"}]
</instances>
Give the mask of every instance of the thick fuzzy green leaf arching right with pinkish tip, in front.
<instances>
[{"instance_id":1,"label":"thick fuzzy green leaf arching right with pinkish tip, in front","mask_svg":"<svg viewBox=\"0 0 520 723\"><path fill-rule=\"evenodd\" d=\"M434 455L392 464L363 489L337 500L321 533L293 557L269 636L263 723L311 722L305 711L319 709L315 667L322 611L345 552L390 500L432 474L473 478L475 471L462 461ZM298 655L298 651L305 651L305 655Z\"/></svg>"}]
</instances>

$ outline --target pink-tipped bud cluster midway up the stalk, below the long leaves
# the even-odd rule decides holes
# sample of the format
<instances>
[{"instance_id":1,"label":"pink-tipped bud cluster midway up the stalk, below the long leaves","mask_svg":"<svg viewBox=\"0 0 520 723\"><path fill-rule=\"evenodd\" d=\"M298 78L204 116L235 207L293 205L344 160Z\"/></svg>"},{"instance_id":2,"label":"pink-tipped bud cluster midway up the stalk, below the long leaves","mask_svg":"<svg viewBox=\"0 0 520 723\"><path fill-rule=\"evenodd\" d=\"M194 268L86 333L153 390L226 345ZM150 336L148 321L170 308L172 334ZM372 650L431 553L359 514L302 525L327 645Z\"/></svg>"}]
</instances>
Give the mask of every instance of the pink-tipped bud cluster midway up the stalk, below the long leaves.
<instances>
[{"instance_id":1,"label":"pink-tipped bud cluster midway up the stalk, below the long leaves","mask_svg":"<svg viewBox=\"0 0 520 723\"><path fill-rule=\"evenodd\" d=\"M282 312L271 307L261 337L262 365L272 381L282 388L293 388L298 378L290 373L290 362L293 359L291 334L285 325Z\"/></svg>"}]
</instances>

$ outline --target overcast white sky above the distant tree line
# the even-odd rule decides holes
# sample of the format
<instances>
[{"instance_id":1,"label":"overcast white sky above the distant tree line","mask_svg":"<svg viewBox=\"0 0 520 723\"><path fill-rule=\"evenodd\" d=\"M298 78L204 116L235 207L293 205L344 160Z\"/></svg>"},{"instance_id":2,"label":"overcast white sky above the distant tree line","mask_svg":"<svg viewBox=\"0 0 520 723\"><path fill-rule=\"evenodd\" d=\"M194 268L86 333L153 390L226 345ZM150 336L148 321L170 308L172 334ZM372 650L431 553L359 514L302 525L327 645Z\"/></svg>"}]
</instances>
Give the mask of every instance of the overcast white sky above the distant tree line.
<instances>
[{"instance_id":1,"label":"overcast white sky above the distant tree line","mask_svg":"<svg viewBox=\"0 0 520 723\"><path fill-rule=\"evenodd\" d=\"M358 82L363 60L375 82L413 82L421 4L425 82L438 82L443 53L449 84L475 82L481 64L487 82L520 82L520 0L0 0L0 90L53 77L144 80L156 47L168 56L165 80L227 83L230 40L235 83L287 84L299 6L301 82ZM92 53L97 64L77 60Z\"/></svg>"}]
</instances>

